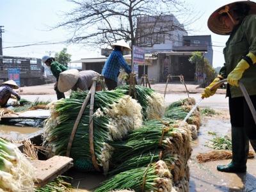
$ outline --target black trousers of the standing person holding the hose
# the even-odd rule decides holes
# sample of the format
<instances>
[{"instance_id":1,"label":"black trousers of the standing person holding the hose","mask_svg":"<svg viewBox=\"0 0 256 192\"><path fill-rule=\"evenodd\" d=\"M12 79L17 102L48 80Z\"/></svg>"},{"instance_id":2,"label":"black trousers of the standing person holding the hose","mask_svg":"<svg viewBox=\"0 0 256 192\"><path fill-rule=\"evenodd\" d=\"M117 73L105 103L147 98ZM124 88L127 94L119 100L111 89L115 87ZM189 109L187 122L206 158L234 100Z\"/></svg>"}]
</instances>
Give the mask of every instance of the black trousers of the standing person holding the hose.
<instances>
[{"instance_id":1,"label":"black trousers of the standing person holding the hose","mask_svg":"<svg viewBox=\"0 0 256 192\"><path fill-rule=\"evenodd\" d=\"M256 108L256 95L250 96L254 108ZM246 136L250 140L256 140L256 124L252 113L244 97L229 97L230 122L233 127L243 127Z\"/></svg>"}]
</instances>

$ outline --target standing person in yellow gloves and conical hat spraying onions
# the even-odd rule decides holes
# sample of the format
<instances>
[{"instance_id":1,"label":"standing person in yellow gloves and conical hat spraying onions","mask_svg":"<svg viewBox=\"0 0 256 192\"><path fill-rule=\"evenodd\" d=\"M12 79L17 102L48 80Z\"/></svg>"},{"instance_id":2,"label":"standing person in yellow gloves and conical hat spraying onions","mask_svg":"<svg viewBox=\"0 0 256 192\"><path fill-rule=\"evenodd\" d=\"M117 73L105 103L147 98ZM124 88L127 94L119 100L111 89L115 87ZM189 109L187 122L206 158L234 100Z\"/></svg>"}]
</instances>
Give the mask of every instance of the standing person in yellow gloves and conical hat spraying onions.
<instances>
[{"instance_id":1,"label":"standing person in yellow gloves and conical hat spraying onions","mask_svg":"<svg viewBox=\"0 0 256 192\"><path fill-rule=\"evenodd\" d=\"M232 161L217 166L220 172L246 172L249 142L256 152L256 124L238 82L244 84L256 108L256 3L237 1L211 14L208 27L218 35L229 35L223 49L225 64L220 74L205 88L202 97L214 95L212 86L227 78L227 97L232 132Z\"/></svg>"}]
</instances>

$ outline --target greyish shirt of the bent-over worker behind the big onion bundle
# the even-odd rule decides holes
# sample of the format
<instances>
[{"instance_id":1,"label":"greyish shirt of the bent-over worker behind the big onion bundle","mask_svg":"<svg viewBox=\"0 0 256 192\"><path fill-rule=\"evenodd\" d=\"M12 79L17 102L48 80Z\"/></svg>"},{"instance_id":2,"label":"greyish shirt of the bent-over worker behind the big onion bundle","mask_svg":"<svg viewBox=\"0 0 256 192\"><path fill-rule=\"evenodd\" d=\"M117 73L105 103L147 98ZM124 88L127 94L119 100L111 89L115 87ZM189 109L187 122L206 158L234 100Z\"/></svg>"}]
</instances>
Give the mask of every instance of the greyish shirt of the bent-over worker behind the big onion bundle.
<instances>
[{"instance_id":1,"label":"greyish shirt of the bent-over worker behind the big onion bundle","mask_svg":"<svg viewBox=\"0 0 256 192\"><path fill-rule=\"evenodd\" d=\"M100 74L94 70L82 70L79 72L79 78L77 81L77 88L80 90L88 90L93 83L93 78L98 77Z\"/></svg>"}]
</instances>

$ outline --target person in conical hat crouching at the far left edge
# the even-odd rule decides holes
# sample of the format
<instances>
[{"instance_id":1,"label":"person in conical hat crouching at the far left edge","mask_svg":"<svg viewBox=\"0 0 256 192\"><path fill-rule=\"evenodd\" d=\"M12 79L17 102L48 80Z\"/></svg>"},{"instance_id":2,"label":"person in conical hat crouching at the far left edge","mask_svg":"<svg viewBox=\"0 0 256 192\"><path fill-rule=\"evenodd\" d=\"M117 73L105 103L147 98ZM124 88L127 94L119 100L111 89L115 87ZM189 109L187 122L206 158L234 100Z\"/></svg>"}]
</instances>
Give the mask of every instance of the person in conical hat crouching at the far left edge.
<instances>
[{"instance_id":1,"label":"person in conical hat crouching at the far left edge","mask_svg":"<svg viewBox=\"0 0 256 192\"><path fill-rule=\"evenodd\" d=\"M0 86L0 106L4 108L10 98L20 100L20 95L13 91L13 89L17 89L19 86L15 81L9 80L5 81Z\"/></svg>"}]
</instances>

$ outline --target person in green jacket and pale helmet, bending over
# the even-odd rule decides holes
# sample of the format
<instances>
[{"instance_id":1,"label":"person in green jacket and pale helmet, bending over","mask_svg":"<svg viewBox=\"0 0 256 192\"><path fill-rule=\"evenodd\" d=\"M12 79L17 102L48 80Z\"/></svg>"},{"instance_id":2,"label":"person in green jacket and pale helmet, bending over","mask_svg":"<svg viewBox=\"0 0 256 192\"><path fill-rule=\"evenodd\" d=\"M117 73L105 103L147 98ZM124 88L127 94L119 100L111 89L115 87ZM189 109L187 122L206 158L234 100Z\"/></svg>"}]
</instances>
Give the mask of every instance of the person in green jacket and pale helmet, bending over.
<instances>
[{"instance_id":1,"label":"person in green jacket and pale helmet, bending over","mask_svg":"<svg viewBox=\"0 0 256 192\"><path fill-rule=\"evenodd\" d=\"M54 84L54 90L56 92L57 99L65 98L65 94L58 90L58 79L59 79L60 73L67 70L67 67L58 63L57 61L55 61L54 58L51 58L50 56L43 56L42 62L45 63L47 67L51 68L51 72L53 76L56 77L57 82Z\"/></svg>"}]
</instances>

